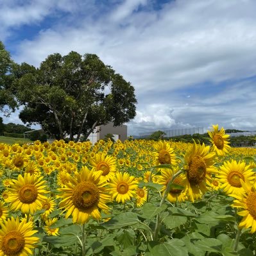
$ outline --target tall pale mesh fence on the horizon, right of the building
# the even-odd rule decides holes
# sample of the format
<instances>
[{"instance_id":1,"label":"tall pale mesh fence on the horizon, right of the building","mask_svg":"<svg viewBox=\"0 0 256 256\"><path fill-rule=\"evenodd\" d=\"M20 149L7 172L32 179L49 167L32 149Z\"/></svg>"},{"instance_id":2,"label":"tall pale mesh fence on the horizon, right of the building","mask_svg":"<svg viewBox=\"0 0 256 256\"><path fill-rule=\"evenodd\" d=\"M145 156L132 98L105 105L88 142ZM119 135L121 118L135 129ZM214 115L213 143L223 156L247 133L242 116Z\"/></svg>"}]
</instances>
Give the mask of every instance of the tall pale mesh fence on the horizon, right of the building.
<instances>
[{"instance_id":1,"label":"tall pale mesh fence on the horizon, right of the building","mask_svg":"<svg viewBox=\"0 0 256 256\"><path fill-rule=\"evenodd\" d=\"M154 131L157 132L157 131ZM142 132L139 133L139 137L148 137L154 132ZM175 137L175 136L180 136L180 135L193 135L195 133L203 134L204 130L203 127L196 127L196 128L181 128L181 129L175 129L175 130L164 130L162 131L166 133L164 137Z\"/></svg>"}]
</instances>

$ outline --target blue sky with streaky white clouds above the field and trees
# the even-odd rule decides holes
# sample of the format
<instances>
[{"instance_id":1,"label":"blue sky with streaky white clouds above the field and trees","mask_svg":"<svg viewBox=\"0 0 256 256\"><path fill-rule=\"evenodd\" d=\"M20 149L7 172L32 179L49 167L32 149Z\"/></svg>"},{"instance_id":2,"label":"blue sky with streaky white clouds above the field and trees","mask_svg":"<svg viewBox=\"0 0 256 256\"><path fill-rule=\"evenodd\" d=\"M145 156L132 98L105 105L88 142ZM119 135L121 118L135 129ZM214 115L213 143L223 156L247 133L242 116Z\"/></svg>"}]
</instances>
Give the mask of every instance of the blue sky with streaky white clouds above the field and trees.
<instances>
[{"instance_id":1,"label":"blue sky with streaky white clouds above the field and trees","mask_svg":"<svg viewBox=\"0 0 256 256\"><path fill-rule=\"evenodd\" d=\"M52 53L98 55L135 88L129 135L254 131L255 13L255 0L0 0L0 40L35 67Z\"/></svg>"}]
</instances>

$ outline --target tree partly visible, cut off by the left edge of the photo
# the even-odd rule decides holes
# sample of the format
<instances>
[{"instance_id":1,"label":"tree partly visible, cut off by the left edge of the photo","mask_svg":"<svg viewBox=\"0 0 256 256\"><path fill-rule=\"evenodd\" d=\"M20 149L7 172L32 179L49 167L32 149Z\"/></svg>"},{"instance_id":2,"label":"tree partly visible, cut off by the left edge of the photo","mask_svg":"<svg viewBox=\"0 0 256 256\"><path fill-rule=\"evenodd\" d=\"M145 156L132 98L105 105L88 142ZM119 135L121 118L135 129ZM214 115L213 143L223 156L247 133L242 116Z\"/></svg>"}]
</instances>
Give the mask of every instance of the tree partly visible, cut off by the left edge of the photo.
<instances>
[{"instance_id":1,"label":"tree partly visible, cut off by the left edge of the photo","mask_svg":"<svg viewBox=\"0 0 256 256\"><path fill-rule=\"evenodd\" d=\"M10 114L10 111L14 111L15 107L17 107L12 92L13 65L10 53L6 51L3 43L0 41L0 111L4 110L6 115Z\"/></svg>"}]
</instances>

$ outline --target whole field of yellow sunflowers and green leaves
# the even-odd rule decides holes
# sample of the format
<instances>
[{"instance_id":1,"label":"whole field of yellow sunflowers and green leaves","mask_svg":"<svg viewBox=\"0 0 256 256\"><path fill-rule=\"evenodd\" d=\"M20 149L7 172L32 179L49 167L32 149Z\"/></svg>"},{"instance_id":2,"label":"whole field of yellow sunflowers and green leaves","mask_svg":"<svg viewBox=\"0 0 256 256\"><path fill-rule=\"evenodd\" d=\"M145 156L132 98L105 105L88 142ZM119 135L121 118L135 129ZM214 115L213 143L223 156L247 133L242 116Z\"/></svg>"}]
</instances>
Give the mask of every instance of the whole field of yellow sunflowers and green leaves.
<instances>
[{"instance_id":1,"label":"whole field of yellow sunflowers and green leaves","mask_svg":"<svg viewBox=\"0 0 256 256\"><path fill-rule=\"evenodd\" d=\"M256 253L256 149L172 141L0 144L0 256Z\"/></svg>"}]
</instances>

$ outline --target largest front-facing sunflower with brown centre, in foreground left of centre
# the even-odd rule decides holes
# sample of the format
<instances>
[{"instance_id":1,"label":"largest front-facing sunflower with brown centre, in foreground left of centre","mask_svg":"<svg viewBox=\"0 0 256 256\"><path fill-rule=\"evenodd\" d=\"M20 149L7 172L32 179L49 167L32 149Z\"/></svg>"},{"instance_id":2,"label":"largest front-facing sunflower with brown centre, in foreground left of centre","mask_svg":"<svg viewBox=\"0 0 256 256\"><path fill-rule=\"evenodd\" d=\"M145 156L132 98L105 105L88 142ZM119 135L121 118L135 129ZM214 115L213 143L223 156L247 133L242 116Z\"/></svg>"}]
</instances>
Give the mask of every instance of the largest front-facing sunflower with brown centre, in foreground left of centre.
<instances>
[{"instance_id":1,"label":"largest front-facing sunflower with brown centre, in foreground left of centre","mask_svg":"<svg viewBox=\"0 0 256 256\"><path fill-rule=\"evenodd\" d=\"M106 203L111 200L106 183L101 180L102 171L89 171L85 166L80 173L76 171L74 178L64 188L59 188L60 209L67 210L65 218L73 216L74 223L86 223L89 217L100 219L99 209L108 210Z\"/></svg>"}]
</instances>

